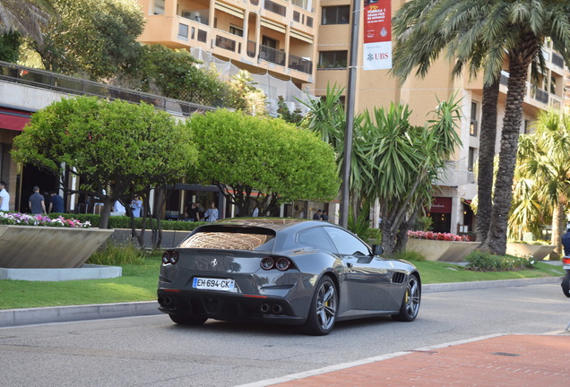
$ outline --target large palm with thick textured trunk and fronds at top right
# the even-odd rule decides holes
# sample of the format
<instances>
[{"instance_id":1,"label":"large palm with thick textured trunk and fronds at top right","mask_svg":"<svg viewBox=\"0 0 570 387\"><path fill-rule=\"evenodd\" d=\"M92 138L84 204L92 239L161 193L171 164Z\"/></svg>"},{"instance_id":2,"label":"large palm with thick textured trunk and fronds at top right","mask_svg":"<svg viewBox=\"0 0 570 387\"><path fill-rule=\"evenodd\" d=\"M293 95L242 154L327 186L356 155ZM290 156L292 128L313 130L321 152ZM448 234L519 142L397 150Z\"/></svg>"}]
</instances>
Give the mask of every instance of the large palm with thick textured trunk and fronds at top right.
<instances>
[{"instance_id":1,"label":"large palm with thick textured trunk and fronds at top right","mask_svg":"<svg viewBox=\"0 0 570 387\"><path fill-rule=\"evenodd\" d=\"M472 55L482 66L488 84L497 80L505 58L507 60L508 91L499 167L488 237L481 246L491 253L505 254L522 100L529 68L533 61L540 61L547 37L566 61L570 57L570 4L557 0L418 0L410 3L423 6L419 25L424 36L413 33L410 36L417 39L416 47L425 47L420 51L425 51L427 59L433 60L433 54L429 53L432 47L441 50L444 41L452 41L450 52L463 61ZM405 16L406 10L414 9L412 5L404 6L402 12ZM433 30L436 26L439 28Z\"/></svg>"}]
</instances>

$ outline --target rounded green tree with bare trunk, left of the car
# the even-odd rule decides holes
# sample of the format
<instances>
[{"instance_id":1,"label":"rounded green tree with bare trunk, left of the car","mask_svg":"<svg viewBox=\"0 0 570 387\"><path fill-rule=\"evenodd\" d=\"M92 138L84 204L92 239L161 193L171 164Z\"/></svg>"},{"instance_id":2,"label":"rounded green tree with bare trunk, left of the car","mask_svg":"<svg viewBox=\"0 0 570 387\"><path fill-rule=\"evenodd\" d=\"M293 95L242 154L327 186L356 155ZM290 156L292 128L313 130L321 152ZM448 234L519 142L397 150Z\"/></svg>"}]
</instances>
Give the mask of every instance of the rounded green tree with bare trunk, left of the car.
<instances>
[{"instance_id":1,"label":"rounded green tree with bare trunk, left of the car","mask_svg":"<svg viewBox=\"0 0 570 387\"><path fill-rule=\"evenodd\" d=\"M187 176L195 148L185 125L151 105L79 97L34 113L14 139L12 155L55 176L77 176L78 189L61 188L99 197L99 228L107 228L117 200Z\"/></svg>"}]
</instances>

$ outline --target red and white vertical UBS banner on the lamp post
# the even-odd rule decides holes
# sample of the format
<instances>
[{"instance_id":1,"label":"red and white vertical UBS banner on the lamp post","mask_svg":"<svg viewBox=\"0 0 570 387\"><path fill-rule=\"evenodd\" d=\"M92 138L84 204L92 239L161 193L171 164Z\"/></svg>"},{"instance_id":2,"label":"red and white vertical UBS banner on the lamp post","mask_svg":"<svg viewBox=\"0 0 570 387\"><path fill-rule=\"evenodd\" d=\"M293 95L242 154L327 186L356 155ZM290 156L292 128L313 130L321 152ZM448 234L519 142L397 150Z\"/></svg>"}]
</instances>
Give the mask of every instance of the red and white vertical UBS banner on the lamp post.
<instances>
[{"instance_id":1,"label":"red and white vertical UBS banner on the lamp post","mask_svg":"<svg viewBox=\"0 0 570 387\"><path fill-rule=\"evenodd\" d=\"M364 70L392 68L392 0L364 1Z\"/></svg>"}]
</instances>

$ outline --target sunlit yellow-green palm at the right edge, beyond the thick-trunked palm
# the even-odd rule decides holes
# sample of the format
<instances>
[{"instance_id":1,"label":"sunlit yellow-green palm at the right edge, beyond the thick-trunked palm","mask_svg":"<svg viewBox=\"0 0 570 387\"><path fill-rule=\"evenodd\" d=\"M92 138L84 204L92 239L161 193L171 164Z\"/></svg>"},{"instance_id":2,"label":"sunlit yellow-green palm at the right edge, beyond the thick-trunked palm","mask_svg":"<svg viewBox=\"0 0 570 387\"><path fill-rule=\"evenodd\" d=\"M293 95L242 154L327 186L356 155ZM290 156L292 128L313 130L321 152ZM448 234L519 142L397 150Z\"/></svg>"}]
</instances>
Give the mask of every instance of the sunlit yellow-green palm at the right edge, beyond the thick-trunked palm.
<instances>
[{"instance_id":1,"label":"sunlit yellow-green palm at the right edge, beyond the thick-trunked palm","mask_svg":"<svg viewBox=\"0 0 570 387\"><path fill-rule=\"evenodd\" d=\"M563 255L561 236L566 227L566 205L570 198L570 116L557 111L540 112L535 123L536 131L522 135L518 150L517 174L533 181L531 193L521 195L522 199L537 198L542 211L531 223L541 220L544 214L552 214L551 244L555 253ZM514 208L522 212L524 200ZM527 204L528 205L528 204ZM513 217L512 217L513 218ZM530 217L529 217L530 218ZM516 218L515 218L516 219Z\"/></svg>"}]
</instances>

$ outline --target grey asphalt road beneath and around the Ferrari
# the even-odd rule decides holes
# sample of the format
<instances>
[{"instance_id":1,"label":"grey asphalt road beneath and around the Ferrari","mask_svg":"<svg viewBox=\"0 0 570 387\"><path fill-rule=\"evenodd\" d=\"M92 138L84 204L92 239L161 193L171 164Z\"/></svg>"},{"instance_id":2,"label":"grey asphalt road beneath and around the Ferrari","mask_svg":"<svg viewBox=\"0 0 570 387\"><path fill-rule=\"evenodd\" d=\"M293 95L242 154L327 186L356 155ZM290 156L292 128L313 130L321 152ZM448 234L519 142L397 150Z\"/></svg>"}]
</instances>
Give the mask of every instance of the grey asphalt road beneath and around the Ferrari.
<instances>
[{"instance_id":1,"label":"grey asphalt road beneath and around the Ferrari","mask_svg":"<svg viewBox=\"0 0 570 387\"><path fill-rule=\"evenodd\" d=\"M167 315L0 329L2 386L234 386L497 333L560 331L559 284L430 293L413 323L338 323L329 336Z\"/></svg>"}]
</instances>

